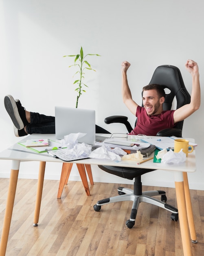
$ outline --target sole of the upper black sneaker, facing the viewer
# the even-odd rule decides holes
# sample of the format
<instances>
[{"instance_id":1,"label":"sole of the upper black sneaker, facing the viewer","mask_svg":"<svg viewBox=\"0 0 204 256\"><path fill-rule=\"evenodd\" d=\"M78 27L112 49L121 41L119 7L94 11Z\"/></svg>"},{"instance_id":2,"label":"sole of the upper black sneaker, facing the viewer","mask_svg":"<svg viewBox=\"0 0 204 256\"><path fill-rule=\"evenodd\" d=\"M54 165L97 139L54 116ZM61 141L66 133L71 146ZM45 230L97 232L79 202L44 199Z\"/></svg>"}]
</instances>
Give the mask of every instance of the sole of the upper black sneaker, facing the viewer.
<instances>
[{"instance_id":1,"label":"sole of the upper black sneaker, facing the viewer","mask_svg":"<svg viewBox=\"0 0 204 256\"><path fill-rule=\"evenodd\" d=\"M11 117L11 120L14 124L14 126L18 129L21 130L24 128L24 124L22 119L20 118L19 112L18 112L18 107L16 105L15 100L11 95L7 95L4 98L4 106Z\"/></svg>"}]
</instances>

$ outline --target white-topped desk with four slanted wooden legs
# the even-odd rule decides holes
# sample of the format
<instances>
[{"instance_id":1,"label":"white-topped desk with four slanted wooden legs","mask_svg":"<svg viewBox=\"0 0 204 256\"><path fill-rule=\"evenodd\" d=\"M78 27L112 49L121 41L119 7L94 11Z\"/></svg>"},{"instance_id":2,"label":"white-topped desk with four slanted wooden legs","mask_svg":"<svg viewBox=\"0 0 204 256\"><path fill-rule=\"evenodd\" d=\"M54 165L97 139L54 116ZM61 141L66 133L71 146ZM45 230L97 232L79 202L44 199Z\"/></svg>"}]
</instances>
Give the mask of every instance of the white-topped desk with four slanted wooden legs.
<instances>
[{"instance_id":1,"label":"white-topped desk with four slanted wooden legs","mask_svg":"<svg viewBox=\"0 0 204 256\"><path fill-rule=\"evenodd\" d=\"M41 135L41 134L33 134L30 135L29 138L49 138L55 140L55 135ZM28 137L26 137L28 139ZM25 138L22 139L25 141ZM17 151L22 150L22 151ZM19 144L14 144L10 148L4 150L0 153L0 159L10 159L12 160L11 164L11 176L9 182L9 190L8 190L8 198L7 205L4 216L4 223L2 229L2 236L0 241L0 256L4 256L6 254L7 242L9 237L9 229L11 225L11 217L13 211L13 204L15 199L15 191L18 181L18 172L20 168L20 162L25 161L39 161L39 178L38 178L38 186L37 186L37 195L36 195L36 203L35 203L35 212L34 212L34 223L37 225L39 220L39 211L40 204L42 198L42 188L44 181L44 171L46 162L63 162L60 159L49 157L46 153L35 154L33 151L26 149ZM112 165L112 166L124 166L124 167L136 167L136 161L121 161L119 163L112 162L110 160L103 159L82 159L73 161L73 163L77 164L97 164L97 165ZM186 172L194 172L196 170L195 166L195 150L193 153L189 154L186 162L182 164L162 164L162 163L153 163L153 160L149 160L140 164L140 168L148 168L148 169L160 169L173 171L175 177L175 190L176 190L176 198L178 204L178 212L179 212L179 222L182 236L182 245L184 256L191 256L191 246L190 240L196 240L195 233L195 225L193 220L193 212L191 207L191 198L189 193L189 184ZM184 200L184 198L186 200ZM190 229L190 234L189 234ZM191 239L190 239L191 235Z\"/></svg>"}]
</instances>

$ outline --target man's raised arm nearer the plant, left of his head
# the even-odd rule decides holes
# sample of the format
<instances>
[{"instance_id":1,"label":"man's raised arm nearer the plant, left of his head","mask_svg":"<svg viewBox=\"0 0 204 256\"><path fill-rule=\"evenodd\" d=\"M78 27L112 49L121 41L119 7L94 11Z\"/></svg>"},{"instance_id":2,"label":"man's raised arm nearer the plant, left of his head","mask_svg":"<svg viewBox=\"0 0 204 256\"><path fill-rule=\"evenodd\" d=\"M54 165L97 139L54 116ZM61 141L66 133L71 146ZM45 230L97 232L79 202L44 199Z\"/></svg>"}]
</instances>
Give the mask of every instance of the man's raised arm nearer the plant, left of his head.
<instances>
[{"instance_id":1,"label":"man's raised arm nearer the plant, left of his head","mask_svg":"<svg viewBox=\"0 0 204 256\"><path fill-rule=\"evenodd\" d=\"M127 70L130 66L130 63L127 61L123 61L121 65L123 102L125 103L127 108L135 115L138 104L132 99L132 94L127 83Z\"/></svg>"}]
</instances>

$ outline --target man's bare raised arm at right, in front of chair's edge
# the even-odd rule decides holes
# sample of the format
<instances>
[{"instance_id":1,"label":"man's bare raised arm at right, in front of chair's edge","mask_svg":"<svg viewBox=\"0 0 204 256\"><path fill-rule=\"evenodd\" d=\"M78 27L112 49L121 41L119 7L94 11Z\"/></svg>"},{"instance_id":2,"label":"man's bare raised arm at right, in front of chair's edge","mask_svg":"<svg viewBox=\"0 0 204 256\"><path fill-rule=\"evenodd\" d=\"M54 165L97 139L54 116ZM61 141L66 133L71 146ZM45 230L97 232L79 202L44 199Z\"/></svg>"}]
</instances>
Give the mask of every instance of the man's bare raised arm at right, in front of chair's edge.
<instances>
[{"instance_id":1,"label":"man's bare raised arm at right, in front of chair's edge","mask_svg":"<svg viewBox=\"0 0 204 256\"><path fill-rule=\"evenodd\" d=\"M175 110L173 114L174 123L186 119L200 107L200 75L198 65L195 61L188 60L186 61L185 66L186 70L188 70L192 76L191 102Z\"/></svg>"}]
</instances>

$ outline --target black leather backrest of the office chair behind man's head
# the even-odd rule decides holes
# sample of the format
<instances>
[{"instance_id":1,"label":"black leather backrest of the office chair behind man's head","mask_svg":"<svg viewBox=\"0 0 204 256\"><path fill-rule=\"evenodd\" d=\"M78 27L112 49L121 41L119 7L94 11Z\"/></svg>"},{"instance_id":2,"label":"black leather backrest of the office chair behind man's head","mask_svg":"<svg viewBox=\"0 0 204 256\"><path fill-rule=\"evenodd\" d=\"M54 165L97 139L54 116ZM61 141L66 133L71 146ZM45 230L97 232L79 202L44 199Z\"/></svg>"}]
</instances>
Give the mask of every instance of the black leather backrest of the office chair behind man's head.
<instances>
[{"instance_id":1,"label":"black leather backrest of the office chair behind man's head","mask_svg":"<svg viewBox=\"0 0 204 256\"><path fill-rule=\"evenodd\" d=\"M171 110L173 99L176 98L177 108L190 103L191 96L186 90L182 75L178 67L171 65L161 65L156 68L149 84L157 83L162 85L163 88L169 89L166 94L165 102L163 103L163 110ZM180 121L175 125L175 128L181 129L183 122Z\"/></svg>"}]
</instances>

